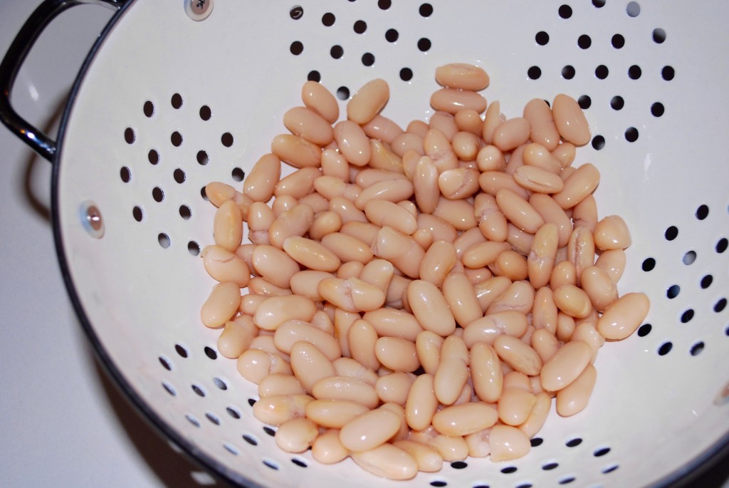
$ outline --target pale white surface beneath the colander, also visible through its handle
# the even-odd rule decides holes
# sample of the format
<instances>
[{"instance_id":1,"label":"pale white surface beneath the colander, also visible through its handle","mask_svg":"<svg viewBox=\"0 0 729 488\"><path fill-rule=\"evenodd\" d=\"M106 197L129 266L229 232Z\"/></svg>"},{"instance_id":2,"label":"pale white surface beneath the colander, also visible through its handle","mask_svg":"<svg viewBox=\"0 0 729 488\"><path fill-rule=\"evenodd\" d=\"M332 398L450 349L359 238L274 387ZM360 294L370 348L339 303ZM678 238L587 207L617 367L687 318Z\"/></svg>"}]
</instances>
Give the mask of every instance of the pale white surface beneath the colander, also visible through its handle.
<instances>
[{"instance_id":1,"label":"pale white surface beneath the colander, also visible through its handle","mask_svg":"<svg viewBox=\"0 0 729 488\"><path fill-rule=\"evenodd\" d=\"M0 0L0 53L39 0ZM77 7L47 28L14 104L55 134L71 82L111 12ZM50 164L0 127L0 486L195 487L95 361L63 287L50 225ZM724 466L727 466L725 461ZM729 487L727 468L696 484Z\"/></svg>"}]
</instances>

